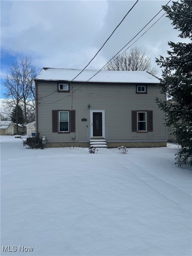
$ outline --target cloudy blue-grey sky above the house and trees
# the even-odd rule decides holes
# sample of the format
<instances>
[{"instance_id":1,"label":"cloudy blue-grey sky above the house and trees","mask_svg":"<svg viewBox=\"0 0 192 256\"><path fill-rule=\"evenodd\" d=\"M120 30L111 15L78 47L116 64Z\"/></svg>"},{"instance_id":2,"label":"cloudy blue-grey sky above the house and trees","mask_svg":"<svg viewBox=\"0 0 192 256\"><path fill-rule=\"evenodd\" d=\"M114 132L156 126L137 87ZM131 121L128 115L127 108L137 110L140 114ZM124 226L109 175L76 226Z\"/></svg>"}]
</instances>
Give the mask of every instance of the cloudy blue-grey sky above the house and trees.
<instances>
[{"instance_id":1,"label":"cloudy blue-grey sky above the house and trees","mask_svg":"<svg viewBox=\"0 0 192 256\"><path fill-rule=\"evenodd\" d=\"M1 0L1 79L19 55L31 56L37 68L83 69L135 2ZM167 2L139 0L87 69L103 67ZM164 15L133 46L146 49L156 66L155 57L166 56L168 41L182 41L178 35Z\"/></svg>"}]
</instances>

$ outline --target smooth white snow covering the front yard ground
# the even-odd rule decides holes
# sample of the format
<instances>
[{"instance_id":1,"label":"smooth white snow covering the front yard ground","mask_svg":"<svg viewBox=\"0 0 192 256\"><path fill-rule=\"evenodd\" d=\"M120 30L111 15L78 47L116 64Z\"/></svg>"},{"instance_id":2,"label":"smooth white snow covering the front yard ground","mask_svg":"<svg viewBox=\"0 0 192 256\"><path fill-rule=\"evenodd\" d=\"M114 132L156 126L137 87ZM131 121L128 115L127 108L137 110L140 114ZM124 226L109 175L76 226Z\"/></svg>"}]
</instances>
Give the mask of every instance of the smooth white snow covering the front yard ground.
<instances>
[{"instance_id":1,"label":"smooth white snow covering the front yard ground","mask_svg":"<svg viewBox=\"0 0 192 256\"><path fill-rule=\"evenodd\" d=\"M1 255L191 255L192 170L174 165L174 144L123 155L0 141Z\"/></svg>"}]
</instances>

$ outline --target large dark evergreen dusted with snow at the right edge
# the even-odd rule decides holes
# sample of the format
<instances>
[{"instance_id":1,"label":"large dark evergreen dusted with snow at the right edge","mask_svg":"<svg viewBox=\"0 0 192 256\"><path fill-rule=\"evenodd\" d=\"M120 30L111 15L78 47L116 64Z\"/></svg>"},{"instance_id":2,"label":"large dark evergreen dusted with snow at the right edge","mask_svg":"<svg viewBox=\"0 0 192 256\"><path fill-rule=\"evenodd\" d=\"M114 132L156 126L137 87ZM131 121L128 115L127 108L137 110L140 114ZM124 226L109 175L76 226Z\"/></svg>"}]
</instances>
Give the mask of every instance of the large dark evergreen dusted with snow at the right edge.
<instances>
[{"instance_id":1,"label":"large dark evergreen dusted with snow at the right edge","mask_svg":"<svg viewBox=\"0 0 192 256\"><path fill-rule=\"evenodd\" d=\"M156 99L158 107L165 112L167 126L173 126L176 143L181 145L177 152L179 166L192 166L192 1L172 2L172 6L162 6L167 17L172 20L174 29L180 31L179 37L187 38L189 43L168 42L171 47L168 57L160 56L156 62L163 67L160 79L161 93L167 93L171 101Z\"/></svg>"}]
</instances>

